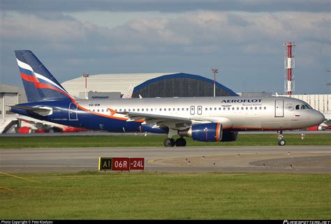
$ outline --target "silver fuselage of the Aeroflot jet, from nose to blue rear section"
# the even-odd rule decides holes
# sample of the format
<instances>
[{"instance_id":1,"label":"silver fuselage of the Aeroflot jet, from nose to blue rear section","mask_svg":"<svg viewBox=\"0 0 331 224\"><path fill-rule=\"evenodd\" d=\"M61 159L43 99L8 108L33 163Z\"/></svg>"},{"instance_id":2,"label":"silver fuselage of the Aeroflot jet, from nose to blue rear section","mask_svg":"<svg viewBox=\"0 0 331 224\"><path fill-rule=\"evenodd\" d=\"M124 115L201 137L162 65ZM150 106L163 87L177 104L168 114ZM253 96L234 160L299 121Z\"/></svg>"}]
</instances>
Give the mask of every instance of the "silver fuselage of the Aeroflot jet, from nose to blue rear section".
<instances>
[{"instance_id":1,"label":"silver fuselage of the Aeroflot jet, from nose to blue rear section","mask_svg":"<svg viewBox=\"0 0 331 224\"><path fill-rule=\"evenodd\" d=\"M321 124L324 117L302 100L288 97L195 97L80 100L78 104L95 114L123 112L156 114L220 123L233 129L300 129Z\"/></svg>"}]
</instances>

